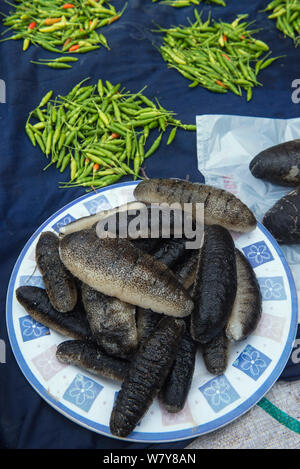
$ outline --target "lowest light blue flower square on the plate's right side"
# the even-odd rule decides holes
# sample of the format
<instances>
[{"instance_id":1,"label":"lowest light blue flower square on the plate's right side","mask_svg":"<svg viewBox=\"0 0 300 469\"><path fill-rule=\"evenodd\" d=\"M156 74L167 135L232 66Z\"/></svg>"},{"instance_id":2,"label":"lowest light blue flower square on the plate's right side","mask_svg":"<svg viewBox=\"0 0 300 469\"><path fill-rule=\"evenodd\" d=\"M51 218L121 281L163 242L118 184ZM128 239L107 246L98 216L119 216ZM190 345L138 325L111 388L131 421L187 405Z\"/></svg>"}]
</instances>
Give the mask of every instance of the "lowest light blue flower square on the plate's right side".
<instances>
[{"instance_id":1,"label":"lowest light blue flower square on the plate's right side","mask_svg":"<svg viewBox=\"0 0 300 469\"><path fill-rule=\"evenodd\" d=\"M224 375L217 376L200 386L199 391L215 412L220 412L240 397Z\"/></svg>"}]
</instances>

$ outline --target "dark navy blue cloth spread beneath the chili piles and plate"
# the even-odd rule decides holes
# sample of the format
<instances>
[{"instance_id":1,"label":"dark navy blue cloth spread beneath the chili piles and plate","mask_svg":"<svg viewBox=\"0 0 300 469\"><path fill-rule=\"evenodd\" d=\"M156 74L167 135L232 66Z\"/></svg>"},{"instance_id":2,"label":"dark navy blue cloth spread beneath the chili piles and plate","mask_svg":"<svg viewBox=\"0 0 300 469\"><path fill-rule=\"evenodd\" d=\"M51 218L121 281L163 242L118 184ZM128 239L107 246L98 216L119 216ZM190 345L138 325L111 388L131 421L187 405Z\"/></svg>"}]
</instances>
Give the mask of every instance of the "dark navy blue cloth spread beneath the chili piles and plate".
<instances>
[{"instance_id":1,"label":"dark navy blue cloth spread beneath the chili piles and plate","mask_svg":"<svg viewBox=\"0 0 300 469\"><path fill-rule=\"evenodd\" d=\"M117 7L124 2L116 1ZM56 54L31 46L22 52L22 41L0 44L0 79L6 84L6 104L0 103L1 184L0 184L0 338L6 342L6 364L0 364L0 445L6 448L183 448L188 441L142 445L102 437L52 409L31 388L12 354L5 325L5 297L10 273L32 233L51 214L84 193L83 188L58 189L62 175L47 164L38 147L24 133L28 113L42 96L52 89L54 95L66 94L79 81L101 77L121 82L136 92L147 85L145 94L157 97L161 104L177 113L184 123L195 123L197 114L224 113L274 118L298 117L300 105L291 100L291 84L299 76L299 49L275 29L266 14L260 12L266 1L228 0L228 7L208 7L213 16L232 21L236 14L249 13L263 28L258 36L271 45L274 55L286 55L261 73L263 87L254 90L250 103L232 93L217 95L202 88L189 88L188 81L169 70L155 45L160 36L152 32L155 24L169 27L186 24L193 8L174 9L151 0L130 0L123 17L112 24L105 35L111 50L100 49L79 55L72 70L51 70L30 63ZM1 2L3 11L9 6ZM3 27L1 30L3 31ZM253 135L255 138L255 135ZM229 155L230 156L230 155ZM224 156L226 157L226 155ZM196 136L179 131L170 146L161 146L146 164L149 177L181 177L202 182L197 170ZM64 176L66 179L68 176ZM126 178L124 178L126 180Z\"/></svg>"}]
</instances>

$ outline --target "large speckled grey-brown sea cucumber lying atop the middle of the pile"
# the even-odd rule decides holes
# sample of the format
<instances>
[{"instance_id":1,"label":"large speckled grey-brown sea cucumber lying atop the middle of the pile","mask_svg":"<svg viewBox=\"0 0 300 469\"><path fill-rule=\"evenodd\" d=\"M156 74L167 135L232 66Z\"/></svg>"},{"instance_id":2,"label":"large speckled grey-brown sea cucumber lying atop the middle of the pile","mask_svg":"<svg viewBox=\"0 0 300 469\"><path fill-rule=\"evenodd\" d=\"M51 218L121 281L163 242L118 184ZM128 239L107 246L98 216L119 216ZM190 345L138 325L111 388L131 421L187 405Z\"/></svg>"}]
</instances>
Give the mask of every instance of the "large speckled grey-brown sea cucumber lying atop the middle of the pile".
<instances>
[{"instance_id":1,"label":"large speckled grey-brown sea cucumber lying atop the middle of the pile","mask_svg":"<svg viewBox=\"0 0 300 469\"><path fill-rule=\"evenodd\" d=\"M105 295L157 313L191 313L193 301L172 271L127 239L78 231L61 239L60 257L75 277Z\"/></svg>"}]
</instances>

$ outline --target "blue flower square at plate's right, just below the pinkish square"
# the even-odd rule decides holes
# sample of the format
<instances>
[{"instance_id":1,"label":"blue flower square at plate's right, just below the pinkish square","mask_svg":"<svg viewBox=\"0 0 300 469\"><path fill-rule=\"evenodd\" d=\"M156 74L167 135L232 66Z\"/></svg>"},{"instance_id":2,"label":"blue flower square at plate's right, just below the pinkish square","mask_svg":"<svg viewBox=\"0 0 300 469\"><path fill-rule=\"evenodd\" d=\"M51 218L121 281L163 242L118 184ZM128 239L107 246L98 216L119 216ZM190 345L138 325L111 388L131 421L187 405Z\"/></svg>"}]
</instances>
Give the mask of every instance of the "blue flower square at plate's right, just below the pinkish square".
<instances>
[{"instance_id":1,"label":"blue flower square at plate's right, just below the pinkish square","mask_svg":"<svg viewBox=\"0 0 300 469\"><path fill-rule=\"evenodd\" d=\"M271 363L271 359L252 345L247 345L233 366L257 381Z\"/></svg>"}]
</instances>

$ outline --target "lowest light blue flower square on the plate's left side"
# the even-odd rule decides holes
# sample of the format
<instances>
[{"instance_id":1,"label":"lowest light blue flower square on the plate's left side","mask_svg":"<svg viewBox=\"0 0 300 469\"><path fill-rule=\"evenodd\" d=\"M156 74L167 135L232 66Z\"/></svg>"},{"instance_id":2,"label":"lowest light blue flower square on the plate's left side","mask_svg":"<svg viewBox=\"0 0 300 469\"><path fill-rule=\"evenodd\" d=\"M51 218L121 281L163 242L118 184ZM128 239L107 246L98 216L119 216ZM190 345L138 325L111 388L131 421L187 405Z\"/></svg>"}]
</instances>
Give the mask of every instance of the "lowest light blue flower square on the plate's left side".
<instances>
[{"instance_id":1,"label":"lowest light blue flower square on the plate's left side","mask_svg":"<svg viewBox=\"0 0 300 469\"><path fill-rule=\"evenodd\" d=\"M101 384L78 373L66 389L63 398L88 412L102 389Z\"/></svg>"}]
</instances>

